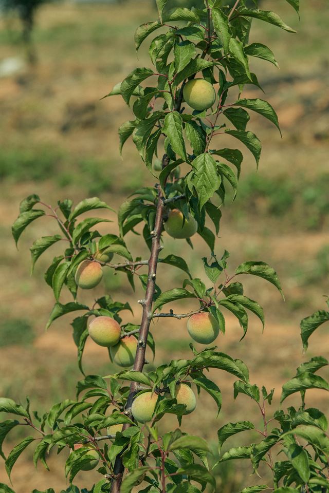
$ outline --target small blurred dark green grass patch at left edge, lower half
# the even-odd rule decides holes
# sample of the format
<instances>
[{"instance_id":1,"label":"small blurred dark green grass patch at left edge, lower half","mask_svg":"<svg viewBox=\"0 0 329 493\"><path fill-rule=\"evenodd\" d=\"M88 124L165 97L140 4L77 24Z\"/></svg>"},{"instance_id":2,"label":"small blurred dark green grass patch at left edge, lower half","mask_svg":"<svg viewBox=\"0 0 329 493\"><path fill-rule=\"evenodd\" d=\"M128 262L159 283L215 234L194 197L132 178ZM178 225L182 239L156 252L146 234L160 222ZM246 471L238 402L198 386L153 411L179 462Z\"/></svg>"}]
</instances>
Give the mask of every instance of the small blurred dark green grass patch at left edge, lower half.
<instances>
[{"instance_id":1,"label":"small blurred dark green grass patch at left edge, lower half","mask_svg":"<svg viewBox=\"0 0 329 493\"><path fill-rule=\"evenodd\" d=\"M0 347L31 344L34 331L29 321L10 318L0 323Z\"/></svg>"}]
</instances>

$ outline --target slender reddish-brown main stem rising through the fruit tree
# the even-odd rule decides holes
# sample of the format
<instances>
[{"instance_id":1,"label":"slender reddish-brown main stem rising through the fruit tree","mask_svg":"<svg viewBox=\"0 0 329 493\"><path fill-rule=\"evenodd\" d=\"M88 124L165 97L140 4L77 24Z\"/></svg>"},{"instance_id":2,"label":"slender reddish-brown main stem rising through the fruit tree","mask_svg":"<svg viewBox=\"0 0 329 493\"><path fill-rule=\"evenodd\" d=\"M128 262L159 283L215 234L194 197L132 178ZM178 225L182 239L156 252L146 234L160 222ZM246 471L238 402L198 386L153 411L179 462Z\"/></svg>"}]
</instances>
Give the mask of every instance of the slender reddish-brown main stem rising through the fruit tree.
<instances>
[{"instance_id":1,"label":"slender reddish-brown main stem rising through the fruit tree","mask_svg":"<svg viewBox=\"0 0 329 493\"><path fill-rule=\"evenodd\" d=\"M162 167L167 166L168 162L169 162L169 158L166 155L164 155L162 158ZM157 185L157 188L158 188L158 203L156 208L154 230L151 232L152 245L151 245L151 254L149 259L148 283L145 292L145 299L142 301L143 314L142 314L142 320L138 333L138 344L137 344L137 351L136 351L136 357L134 363L134 370L137 371L143 371L143 367L145 364L145 350L147 346L147 339L148 339L150 324L152 320L152 302L153 302L153 295L155 291L156 270L158 265L159 252L161 250L160 237L162 232L163 213L165 211L165 199L162 195L160 185ZM132 382L130 386L130 394L128 396L126 403L126 410L129 410L132 406L134 396L137 391L137 386L138 384L136 382ZM123 425L123 429L126 429L128 427L129 424ZM123 478L123 472L124 472L121 455L118 455L116 457L113 472L114 472L114 479L111 485L111 493L119 493L122 478Z\"/></svg>"}]
</instances>

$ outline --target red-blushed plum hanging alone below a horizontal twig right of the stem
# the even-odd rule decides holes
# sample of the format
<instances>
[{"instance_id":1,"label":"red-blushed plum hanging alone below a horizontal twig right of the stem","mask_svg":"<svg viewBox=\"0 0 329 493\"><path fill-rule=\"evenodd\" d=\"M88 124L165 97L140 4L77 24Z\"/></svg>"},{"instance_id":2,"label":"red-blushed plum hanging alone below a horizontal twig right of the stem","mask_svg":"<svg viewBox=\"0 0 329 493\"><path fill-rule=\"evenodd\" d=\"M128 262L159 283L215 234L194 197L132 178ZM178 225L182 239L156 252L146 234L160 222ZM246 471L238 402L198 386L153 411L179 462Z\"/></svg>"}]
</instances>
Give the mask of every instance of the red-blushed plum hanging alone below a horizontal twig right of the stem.
<instances>
[{"instance_id":1,"label":"red-blushed plum hanging alone below a horizontal twig right of the stem","mask_svg":"<svg viewBox=\"0 0 329 493\"><path fill-rule=\"evenodd\" d=\"M201 312L188 319L187 330L197 343L210 344L220 333L220 326L211 313Z\"/></svg>"}]
</instances>

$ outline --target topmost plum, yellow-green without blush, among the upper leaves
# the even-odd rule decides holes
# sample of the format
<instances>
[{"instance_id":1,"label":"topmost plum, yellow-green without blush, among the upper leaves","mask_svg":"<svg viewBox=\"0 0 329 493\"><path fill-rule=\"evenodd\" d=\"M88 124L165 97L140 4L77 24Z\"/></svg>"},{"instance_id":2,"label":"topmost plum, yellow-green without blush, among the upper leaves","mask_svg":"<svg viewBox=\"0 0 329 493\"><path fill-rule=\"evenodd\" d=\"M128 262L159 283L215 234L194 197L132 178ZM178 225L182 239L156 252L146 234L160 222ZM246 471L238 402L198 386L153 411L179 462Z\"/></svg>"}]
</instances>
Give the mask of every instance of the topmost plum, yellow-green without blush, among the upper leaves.
<instances>
[{"instance_id":1,"label":"topmost plum, yellow-green without blush, among the upper leaves","mask_svg":"<svg viewBox=\"0 0 329 493\"><path fill-rule=\"evenodd\" d=\"M184 86L183 96L187 104L198 111L210 108L216 100L215 89L205 79L189 81Z\"/></svg>"}]
</instances>

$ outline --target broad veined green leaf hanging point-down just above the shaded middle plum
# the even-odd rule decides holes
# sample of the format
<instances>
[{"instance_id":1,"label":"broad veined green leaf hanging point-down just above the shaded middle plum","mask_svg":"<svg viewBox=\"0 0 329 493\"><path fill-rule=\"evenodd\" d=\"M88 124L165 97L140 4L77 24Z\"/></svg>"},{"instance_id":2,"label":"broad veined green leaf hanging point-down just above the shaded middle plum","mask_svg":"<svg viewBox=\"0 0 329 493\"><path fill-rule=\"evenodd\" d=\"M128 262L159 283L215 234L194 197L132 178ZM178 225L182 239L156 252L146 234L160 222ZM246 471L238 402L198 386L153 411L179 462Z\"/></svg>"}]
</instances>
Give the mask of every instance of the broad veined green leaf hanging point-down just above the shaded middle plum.
<instances>
[{"instance_id":1,"label":"broad veined green leaf hanging point-down just above the shaded middle plum","mask_svg":"<svg viewBox=\"0 0 329 493\"><path fill-rule=\"evenodd\" d=\"M221 184L221 177L217 173L217 163L210 154L204 153L192 161L193 177L191 182L195 186L199 208L201 209Z\"/></svg>"}]
</instances>

